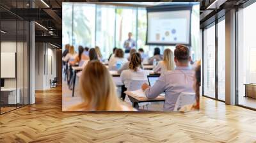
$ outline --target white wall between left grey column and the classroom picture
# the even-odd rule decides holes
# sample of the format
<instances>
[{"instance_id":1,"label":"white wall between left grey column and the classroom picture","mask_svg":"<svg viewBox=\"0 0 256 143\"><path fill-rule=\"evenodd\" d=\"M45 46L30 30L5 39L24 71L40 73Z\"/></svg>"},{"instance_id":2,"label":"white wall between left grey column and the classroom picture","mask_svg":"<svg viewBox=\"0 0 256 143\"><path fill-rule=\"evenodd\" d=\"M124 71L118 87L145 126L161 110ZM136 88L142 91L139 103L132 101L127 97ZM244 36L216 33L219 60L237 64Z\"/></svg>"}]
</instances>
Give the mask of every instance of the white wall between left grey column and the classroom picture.
<instances>
[{"instance_id":1,"label":"white wall between left grey column and the classroom picture","mask_svg":"<svg viewBox=\"0 0 256 143\"><path fill-rule=\"evenodd\" d=\"M56 77L56 49L49 43L36 43L35 90L50 88L50 79Z\"/></svg>"}]
</instances>

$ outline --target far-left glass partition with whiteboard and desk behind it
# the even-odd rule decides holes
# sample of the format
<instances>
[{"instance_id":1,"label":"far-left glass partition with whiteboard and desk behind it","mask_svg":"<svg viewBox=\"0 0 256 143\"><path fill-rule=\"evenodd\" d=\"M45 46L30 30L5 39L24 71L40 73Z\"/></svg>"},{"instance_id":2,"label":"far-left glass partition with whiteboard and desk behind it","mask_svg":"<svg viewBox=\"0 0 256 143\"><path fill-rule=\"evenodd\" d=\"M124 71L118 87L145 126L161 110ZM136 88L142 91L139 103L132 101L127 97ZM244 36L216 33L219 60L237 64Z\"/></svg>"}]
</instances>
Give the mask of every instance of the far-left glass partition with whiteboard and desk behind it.
<instances>
[{"instance_id":1,"label":"far-left glass partition with whiteboard and desk behind it","mask_svg":"<svg viewBox=\"0 0 256 143\"><path fill-rule=\"evenodd\" d=\"M25 8L25 1L12 8ZM2 2L0 2L2 4ZM13 15L0 15L0 114L29 104L29 22Z\"/></svg>"}]
</instances>

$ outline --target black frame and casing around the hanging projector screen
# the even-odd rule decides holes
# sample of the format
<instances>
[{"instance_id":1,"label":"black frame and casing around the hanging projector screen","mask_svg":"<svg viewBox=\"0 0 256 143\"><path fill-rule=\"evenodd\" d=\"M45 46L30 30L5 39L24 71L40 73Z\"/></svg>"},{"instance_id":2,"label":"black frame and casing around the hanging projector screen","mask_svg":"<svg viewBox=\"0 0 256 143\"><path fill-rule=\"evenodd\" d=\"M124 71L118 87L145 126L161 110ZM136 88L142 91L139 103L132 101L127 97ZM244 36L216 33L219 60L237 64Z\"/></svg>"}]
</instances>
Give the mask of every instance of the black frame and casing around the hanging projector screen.
<instances>
[{"instance_id":1,"label":"black frame and casing around the hanging projector screen","mask_svg":"<svg viewBox=\"0 0 256 143\"><path fill-rule=\"evenodd\" d=\"M145 45L159 45L159 46L175 46L174 43L148 43L148 12L159 12L159 11L179 11L189 10L189 43L180 43L188 47L191 46L191 15L194 4L173 4L173 5L161 5L161 6L150 6L147 7L147 34ZM171 10L170 10L171 9Z\"/></svg>"}]
</instances>

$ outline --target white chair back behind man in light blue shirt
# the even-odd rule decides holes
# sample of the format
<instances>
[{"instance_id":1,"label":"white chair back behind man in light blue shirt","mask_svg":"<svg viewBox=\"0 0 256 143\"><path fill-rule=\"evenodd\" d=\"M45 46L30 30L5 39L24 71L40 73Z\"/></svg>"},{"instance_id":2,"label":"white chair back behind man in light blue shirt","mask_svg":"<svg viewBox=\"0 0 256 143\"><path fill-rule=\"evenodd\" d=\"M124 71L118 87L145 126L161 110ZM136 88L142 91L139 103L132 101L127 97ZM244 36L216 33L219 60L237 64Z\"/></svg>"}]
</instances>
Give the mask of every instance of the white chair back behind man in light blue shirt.
<instances>
[{"instance_id":1,"label":"white chair back behind man in light blue shirt","mask_svg":"<svg viewBox=\"0 0 256 143\"><path fill-rule=\"evenodd\" d=\"M180 93L173 111L179 111L181 107L195 103L195 93Z\"/></svg>"}]
</instances>

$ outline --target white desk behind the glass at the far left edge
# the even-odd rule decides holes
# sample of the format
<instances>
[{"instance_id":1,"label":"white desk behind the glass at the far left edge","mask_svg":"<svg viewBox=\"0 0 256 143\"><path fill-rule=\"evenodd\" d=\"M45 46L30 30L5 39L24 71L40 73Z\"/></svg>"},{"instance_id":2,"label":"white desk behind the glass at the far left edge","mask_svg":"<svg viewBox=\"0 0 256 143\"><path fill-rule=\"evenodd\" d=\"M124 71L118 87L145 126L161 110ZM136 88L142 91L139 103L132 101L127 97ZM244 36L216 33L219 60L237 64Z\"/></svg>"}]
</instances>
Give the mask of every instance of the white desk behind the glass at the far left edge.
<instances>
[{"instance_id":1,"label":"white desk behind the glass at the far left edge","mask_svg":"<svg viewBox=\"0 0 256 143\"><path fill-rule=\"evenodd\" d=\"M16 88L3 88L1 89L1 96L4 93L8 94L8 104L20 103L20 89L17 88L17 97L16 97Z\"/></svg>"}]
</instances>

